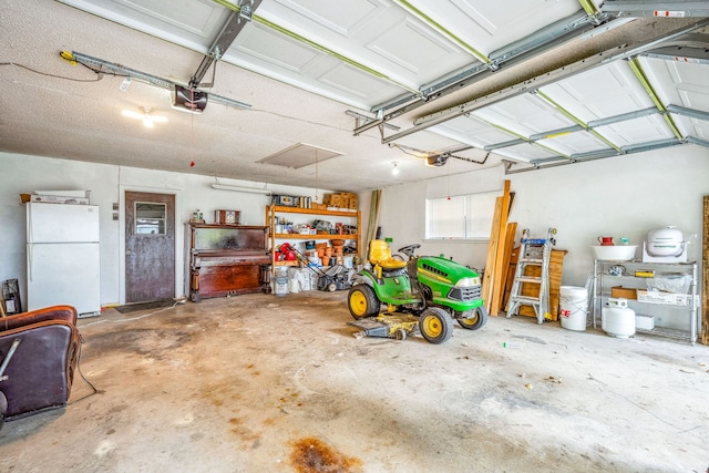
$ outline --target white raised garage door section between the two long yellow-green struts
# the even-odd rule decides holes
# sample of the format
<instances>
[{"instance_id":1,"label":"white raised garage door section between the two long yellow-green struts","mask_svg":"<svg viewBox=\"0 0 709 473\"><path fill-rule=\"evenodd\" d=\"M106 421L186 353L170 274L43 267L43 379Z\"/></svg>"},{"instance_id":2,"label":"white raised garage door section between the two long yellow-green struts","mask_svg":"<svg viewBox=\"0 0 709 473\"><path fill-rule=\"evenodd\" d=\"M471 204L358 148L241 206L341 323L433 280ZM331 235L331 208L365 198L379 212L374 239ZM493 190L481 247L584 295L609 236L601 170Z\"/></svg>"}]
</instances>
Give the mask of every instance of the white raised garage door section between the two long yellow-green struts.
<instances>
[{"instance_id":1,"label":"white raised garage door section between the two long yellow-green struts","mask_svg":"<svg viewBox=\"0 0 709 473\"><path fill-rule=\"evenodd\" d=\"M474 61L390 1L275 0L261 3L257 14L413 90Z\"/></svg>"}]
</instances>

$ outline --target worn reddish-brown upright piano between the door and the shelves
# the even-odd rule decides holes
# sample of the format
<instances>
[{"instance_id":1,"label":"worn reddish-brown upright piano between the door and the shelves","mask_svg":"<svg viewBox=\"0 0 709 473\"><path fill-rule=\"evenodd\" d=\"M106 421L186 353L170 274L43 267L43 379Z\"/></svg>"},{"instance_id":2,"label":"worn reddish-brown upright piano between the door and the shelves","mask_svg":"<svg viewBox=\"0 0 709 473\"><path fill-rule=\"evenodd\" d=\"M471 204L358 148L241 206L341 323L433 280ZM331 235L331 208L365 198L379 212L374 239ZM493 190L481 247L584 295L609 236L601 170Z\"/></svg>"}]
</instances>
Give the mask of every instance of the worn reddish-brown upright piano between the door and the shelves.
<instances>
[{"instance_id":1,"label":"worn reddish-brown upright piano between the door and the shelves","mask_svg":"<svg viewBox=\"0 0 709 473\"><path fill-rule=\"evenodd\" d=\"M189 299L259 292L268 282L268 227L188 224Z\"/></svg>"}]
</instances>

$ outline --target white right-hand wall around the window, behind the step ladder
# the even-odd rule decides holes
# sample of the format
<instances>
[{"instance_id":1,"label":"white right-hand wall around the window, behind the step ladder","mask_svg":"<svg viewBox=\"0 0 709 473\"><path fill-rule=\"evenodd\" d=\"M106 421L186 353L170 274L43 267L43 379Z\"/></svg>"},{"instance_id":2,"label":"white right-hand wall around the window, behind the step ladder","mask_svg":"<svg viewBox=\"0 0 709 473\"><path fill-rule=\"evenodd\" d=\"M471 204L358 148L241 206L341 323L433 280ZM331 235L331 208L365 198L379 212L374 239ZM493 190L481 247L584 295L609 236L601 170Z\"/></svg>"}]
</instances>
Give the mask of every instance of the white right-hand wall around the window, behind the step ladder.
<instances>
[{"instance_id":1,"label":"white right-hand wall around the window, behind the step ladder","mask_svg":"<svg viewBox=\"0 0 709 473\"><path fill-rule=\"evenodd\" d=\"M563 284L584 286L593 271L590 245L598 236L624 236L641 245L647 233L676 225L689 245L689 258L701 260L702 196L709 195L709 150L685 145L505 176L502 167L473 171L450 178L450 194L502 189L511 181L515 192L510 222L517 222L517 241L523 228L545 236L557 228L557 248L568 250ZM448 193L446 178L388 187L383 191L380 225L392 247L419 243L421 254L452 256L482 269L487 243L427 241L427 197ZM502 195L502 191L501 191Z\"/></svg>"}]
</instances>

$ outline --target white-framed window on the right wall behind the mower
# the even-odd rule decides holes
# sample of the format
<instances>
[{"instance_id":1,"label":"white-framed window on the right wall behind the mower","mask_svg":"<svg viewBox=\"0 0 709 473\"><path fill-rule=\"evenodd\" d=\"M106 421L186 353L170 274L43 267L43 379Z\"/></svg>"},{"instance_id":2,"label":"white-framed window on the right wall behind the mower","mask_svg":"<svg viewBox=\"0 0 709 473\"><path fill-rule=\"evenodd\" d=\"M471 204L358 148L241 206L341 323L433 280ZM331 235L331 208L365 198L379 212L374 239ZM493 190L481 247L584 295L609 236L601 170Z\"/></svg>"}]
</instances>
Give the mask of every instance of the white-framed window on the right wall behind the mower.
<instances>
[{"instance_id":1,"label":"white-framed window on the right wall behind the mower","mask_svg":"<svg viewBox=\"0 0 709 473\"><path fill-rule=\"evenodd\" d=\"M500 192L425 199L428 239L487 239Z\"/></svg>"}]
</instances>

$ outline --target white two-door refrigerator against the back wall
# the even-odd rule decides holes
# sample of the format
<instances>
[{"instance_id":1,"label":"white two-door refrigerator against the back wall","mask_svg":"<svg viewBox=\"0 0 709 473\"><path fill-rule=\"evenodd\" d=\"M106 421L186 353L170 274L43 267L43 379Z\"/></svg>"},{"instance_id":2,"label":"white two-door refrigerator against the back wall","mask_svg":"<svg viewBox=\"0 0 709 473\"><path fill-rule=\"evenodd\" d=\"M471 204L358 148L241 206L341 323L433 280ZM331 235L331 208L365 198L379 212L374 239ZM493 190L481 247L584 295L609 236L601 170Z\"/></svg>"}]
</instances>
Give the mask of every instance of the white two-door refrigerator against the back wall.
<instances>
[{"instance_id":1,"label":"white two-door refrigerator against the back wall","mask_svg":"<svg viewBox=\"0 0 709 473\"><path fill-rule=\"evenodd\" d=\"M27 204L28 310L70 305L101 313L99 206Z\"/></svg>"}]
</instances>

